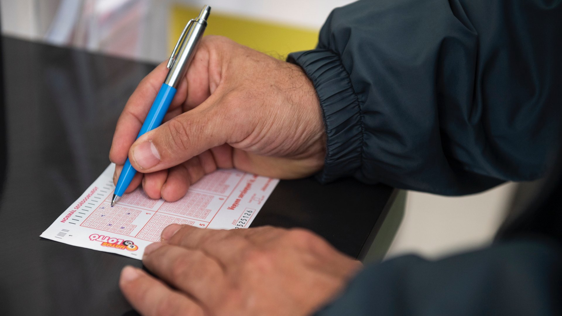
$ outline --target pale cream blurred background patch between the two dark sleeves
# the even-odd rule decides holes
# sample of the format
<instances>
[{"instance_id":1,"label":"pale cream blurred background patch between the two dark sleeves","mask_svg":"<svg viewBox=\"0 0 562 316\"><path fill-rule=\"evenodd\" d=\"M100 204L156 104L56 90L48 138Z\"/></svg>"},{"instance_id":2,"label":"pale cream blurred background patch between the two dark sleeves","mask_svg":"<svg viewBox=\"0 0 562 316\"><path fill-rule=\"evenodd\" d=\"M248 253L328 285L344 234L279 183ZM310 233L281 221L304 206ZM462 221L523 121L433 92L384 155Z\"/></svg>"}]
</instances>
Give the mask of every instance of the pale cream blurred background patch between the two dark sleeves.
<instances>
[{"instance_id":1,"label":"pale cream blurred background patch between the two dark sleeves","mask_svg":"<svg viewBox=\"0 0 562 316\"><path fill-rule=\"evenodd\" d=\"M487 245L507 214L515 186L505 183L463 197L409 191L404 219L386 258L411 252L437 258Z\"/></svg>"}]
</instances>

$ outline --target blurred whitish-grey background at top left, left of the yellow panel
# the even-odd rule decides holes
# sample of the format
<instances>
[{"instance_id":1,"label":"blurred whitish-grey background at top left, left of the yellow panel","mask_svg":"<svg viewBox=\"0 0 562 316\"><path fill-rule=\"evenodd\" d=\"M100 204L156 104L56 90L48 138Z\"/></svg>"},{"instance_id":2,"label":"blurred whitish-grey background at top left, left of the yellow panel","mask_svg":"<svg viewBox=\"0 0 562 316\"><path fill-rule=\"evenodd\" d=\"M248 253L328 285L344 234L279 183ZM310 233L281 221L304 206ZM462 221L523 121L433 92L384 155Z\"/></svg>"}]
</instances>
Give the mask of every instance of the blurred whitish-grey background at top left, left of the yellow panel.
<instances>
[{"instance_id":1,"label":"blurred whitish-grey background at top left, left of the yellow panel","mask_svg":"<svg viewBox=\"0 0 562 316\"><path fill-rule=\"evenodd\" d=\"M155 0L0 2L4 34L152 62L164 60L168 53L167 3Z\"/></svg>"}]
</instances>

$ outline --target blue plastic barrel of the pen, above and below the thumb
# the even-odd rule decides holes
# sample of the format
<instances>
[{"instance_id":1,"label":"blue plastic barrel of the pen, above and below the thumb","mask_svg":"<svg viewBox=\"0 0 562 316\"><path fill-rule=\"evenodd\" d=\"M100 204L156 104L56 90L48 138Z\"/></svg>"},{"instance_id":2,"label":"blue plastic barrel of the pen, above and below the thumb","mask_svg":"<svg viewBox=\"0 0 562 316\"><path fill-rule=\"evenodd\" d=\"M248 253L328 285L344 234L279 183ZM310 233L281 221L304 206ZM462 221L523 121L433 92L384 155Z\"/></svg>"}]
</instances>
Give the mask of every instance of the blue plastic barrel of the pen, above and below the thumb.
<instances>
[{"instance_id":1,"label":"blue plastic barrel of the pen, above and below the thumb","mask_svg":"<svg viewBox=\"0 0 562 316\"><path fill-rule=\"evenodd\" d=\"M176 89L174 87L170 87L169 85L163 83L162 87L160 87L160 91L156 96L156 99L152 103L150 111L148 111L148 115L140 128L139 134L137 135L137 139L144 133L148 132L149 130L153 130L162 124L162 120L164 119L164 115L168 111L170 107L170 103L174 98L176 93ZM129 187L129 184L133 180L133 177L137 173L137 170L133 168L129 158L125 161L125 165L123 166L123 170L121 170L121 174L119 175L119 180L117 181L117 185L115 186L115 194L117 196L123 196L125 190Z\"/></svg>"}]
</instances>

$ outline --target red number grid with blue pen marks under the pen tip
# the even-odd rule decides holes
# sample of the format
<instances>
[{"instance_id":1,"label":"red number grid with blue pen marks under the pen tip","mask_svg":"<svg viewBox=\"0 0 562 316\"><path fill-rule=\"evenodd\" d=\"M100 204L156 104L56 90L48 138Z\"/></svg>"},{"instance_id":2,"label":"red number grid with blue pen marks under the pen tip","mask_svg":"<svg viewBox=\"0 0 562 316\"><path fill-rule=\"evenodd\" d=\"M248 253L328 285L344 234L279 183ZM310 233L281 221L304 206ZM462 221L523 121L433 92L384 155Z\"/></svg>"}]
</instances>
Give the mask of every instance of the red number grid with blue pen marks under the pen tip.
<instances>
[{"instance_id":1,"label":"red number grid with blue pen marks under the pen tip","mask_svg":"<svg viewBox=\"0 0 562 316\"><path fill-rule=\"evenodd\" d=\"M137 225L132 223L139 214L139 210L120 205L111 207L109 204L104 203L81 226L130 235L137 227Z\"/></svg>"}]
</instances>

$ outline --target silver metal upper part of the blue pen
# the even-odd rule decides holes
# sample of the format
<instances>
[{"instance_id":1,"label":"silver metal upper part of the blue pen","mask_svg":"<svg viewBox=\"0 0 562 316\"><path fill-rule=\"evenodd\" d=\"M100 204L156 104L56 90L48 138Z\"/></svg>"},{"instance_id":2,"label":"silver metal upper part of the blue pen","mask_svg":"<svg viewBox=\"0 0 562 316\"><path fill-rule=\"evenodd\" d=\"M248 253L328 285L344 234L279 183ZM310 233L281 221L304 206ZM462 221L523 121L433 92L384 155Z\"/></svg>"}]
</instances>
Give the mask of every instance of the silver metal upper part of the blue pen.
<instances>
[{"instance_id":1,"label":"silver metal upper part of the blue pen","mask_svg":"<svg viewBox=\"0 0 562 316\"><path fill-rule=\"evenodd\" d=\"M166 80L164 80L164 83L170 87L177 88L185 74L185 71L187 71L191 60L193 59L193 55L195 55L195 52L197 51L197 44L207 27L207 19L209 18L210 12L210 6L206 5L203 7L201 13L197 19L193 21L191 27L187 31L187 34L185 34L185 39L178 48L178 53L170 66Z\"/></svg>"}]
</instances>

